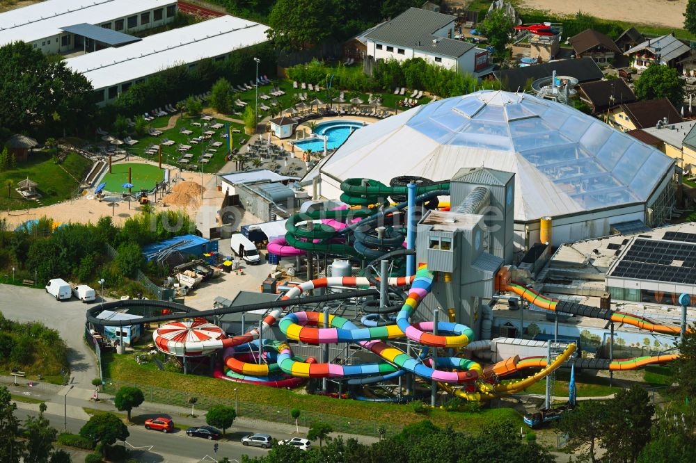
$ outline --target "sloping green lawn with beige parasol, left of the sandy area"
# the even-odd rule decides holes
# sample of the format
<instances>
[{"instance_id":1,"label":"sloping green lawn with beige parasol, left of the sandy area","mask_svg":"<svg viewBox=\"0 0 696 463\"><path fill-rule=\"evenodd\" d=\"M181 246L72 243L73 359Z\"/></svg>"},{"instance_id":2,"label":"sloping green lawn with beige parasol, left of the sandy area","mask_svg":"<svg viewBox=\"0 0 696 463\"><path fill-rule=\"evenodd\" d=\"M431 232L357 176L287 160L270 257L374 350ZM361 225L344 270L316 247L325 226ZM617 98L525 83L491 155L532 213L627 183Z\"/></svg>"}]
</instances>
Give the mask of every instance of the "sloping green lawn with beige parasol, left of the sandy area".
<instances>
[{"instance_id":1,"label":"sloping green lawn with beige parasol, left of the sandy area","mask_svg":"<svg viewBox=\"0 0 696 463\"><path fill-rule=\"evenodd\" d=\"M29 161L18 163L16 169L0 172L0 210L26 209L49 206L70 199L77 193L79 181L92 163L79 154L70 153L60 165L45 152L29 154ZM38 201L26 201L15 191L17 182L29 177L38 184L42 197ZM8 197L7 182L12 182Z\"/></svg>"}]
</instances>

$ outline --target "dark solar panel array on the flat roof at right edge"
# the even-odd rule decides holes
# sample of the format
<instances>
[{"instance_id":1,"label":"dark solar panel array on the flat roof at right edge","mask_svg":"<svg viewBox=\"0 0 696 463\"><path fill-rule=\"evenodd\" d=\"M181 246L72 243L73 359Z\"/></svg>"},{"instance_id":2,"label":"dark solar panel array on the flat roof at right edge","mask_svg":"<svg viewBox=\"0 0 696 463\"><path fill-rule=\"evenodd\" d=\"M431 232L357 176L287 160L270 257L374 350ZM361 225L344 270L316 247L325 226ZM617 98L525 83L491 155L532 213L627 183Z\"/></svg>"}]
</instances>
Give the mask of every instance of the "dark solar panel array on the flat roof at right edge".
<instances>
[{"instance_id":1,"label":"dark solar panel array on the flat roof at right edge","mask_svg":"<svg viewBox=\"0 0 696 463\"><path fill-rule=\"evenodd\" d=\"M696 241L677 243L638 238L628 248L611 276L695 284Z\"/></svg>"}]
</instances>

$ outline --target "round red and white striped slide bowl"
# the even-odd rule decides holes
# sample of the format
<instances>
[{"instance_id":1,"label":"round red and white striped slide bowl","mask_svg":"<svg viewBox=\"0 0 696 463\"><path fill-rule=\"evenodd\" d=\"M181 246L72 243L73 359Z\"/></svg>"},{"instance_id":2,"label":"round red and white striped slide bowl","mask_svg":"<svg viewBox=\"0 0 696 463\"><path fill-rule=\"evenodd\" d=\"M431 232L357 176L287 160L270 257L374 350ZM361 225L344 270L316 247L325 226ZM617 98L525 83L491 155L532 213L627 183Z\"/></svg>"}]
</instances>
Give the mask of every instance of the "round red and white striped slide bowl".
<instances>
[{"instance_id":1,"label":"round red and white striped slide bowl","mask_svg":"<svg viewBox=\"0 0 696 463\"><path fill-rule=\"evenodd\" d=\"M162 325L152 333L152 339L159 350L185 357L210 354L222 347L222 340L225 338L222 328L208 323L205 318L174 321Z\"/></svg>"}]
</instances>

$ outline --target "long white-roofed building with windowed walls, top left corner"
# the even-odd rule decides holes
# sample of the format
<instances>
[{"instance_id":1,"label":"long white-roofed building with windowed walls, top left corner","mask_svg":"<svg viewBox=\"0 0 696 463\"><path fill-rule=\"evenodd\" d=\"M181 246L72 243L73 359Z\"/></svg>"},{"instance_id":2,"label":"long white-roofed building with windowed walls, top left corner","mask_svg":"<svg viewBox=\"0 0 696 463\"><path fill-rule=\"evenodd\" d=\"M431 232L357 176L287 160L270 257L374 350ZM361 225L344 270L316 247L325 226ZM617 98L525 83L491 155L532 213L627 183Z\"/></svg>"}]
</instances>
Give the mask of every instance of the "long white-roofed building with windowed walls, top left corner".
<instances>
[{"instance_id":1,"label":"long white-roofed building with windowed walls, top left corner","mask_svg":"<svg viewBox=\"0 0 696 463\"><path fill-rule=\"evenodd\" d=\"M99 48L98 38L65 28L90 24L134 33L172 22L176 12L175 0L47 0L0 14L0 46L22 41L44 53L90 51Z\"/></svg>"}]
</instances>

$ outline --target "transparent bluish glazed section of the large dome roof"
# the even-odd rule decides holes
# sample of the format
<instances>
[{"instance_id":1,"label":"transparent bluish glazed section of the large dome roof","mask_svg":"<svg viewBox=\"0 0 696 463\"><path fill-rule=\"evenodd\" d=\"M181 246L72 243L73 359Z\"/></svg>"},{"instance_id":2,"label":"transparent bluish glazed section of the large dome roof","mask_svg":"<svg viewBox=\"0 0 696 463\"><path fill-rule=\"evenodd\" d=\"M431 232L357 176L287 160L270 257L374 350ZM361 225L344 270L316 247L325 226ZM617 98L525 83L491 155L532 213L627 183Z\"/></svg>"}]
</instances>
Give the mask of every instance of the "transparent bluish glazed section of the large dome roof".
<instances>
[{"instance_id":1,"label":"transparent bluish glazed section of the large dome roof","mask_svg":"<svg viewBox=\"0 0 696 463\"><path fill-rule=\"evenodd\" d=\"M586 210L646 202L672 159L570 106L482 90L429 104L407 125L443 145L515 156Z\"/></svg>"}]
</instances>

